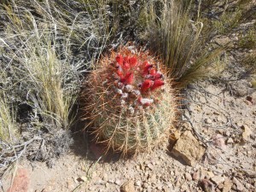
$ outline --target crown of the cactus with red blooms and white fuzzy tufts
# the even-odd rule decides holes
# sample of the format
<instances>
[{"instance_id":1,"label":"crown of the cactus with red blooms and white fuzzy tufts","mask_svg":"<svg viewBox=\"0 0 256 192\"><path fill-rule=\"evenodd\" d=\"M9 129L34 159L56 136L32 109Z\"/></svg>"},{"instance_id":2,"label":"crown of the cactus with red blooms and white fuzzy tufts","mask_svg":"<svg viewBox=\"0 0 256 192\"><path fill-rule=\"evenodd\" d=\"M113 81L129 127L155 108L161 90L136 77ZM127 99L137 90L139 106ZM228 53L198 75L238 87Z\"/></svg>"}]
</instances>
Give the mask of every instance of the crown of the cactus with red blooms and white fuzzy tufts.
<instances>
[{"instance_id":1,"label":"crown of the cactus with red blooms and white fuzzy tufts","mask_svg":"<svg viewBox=\"0 0 256 192\"><path fill-rule=\"evenodd\" d=\"M130 114L159 102L164 76L150 60L145 55L135 55L125 49L109 63L108 79L102 85L113 86L119 105Z\"/></svg>"}]
</instances>

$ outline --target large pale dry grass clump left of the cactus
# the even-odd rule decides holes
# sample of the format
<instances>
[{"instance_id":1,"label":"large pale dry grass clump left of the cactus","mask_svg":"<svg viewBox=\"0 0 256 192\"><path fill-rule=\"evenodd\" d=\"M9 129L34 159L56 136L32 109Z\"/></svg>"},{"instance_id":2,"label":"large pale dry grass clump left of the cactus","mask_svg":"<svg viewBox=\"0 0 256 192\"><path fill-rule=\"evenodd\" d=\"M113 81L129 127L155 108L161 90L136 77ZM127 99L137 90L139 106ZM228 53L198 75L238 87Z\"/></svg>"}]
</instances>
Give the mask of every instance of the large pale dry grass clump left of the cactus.
<instances>
[{"instance_id":1,"label":"large pale dry grass clump left of the cactus","mask_svg":"<svg viewBox=\"0 0 256 192\"><path fill-rule=\"evenodd\" d=\"M63 2L20 0L1 7L0 50L12 71L13 97L31 106L32 119L49 130L70 127L80 79L108 39L106 9L83 8L90 12Z\"/></svg>"}]
</instances>

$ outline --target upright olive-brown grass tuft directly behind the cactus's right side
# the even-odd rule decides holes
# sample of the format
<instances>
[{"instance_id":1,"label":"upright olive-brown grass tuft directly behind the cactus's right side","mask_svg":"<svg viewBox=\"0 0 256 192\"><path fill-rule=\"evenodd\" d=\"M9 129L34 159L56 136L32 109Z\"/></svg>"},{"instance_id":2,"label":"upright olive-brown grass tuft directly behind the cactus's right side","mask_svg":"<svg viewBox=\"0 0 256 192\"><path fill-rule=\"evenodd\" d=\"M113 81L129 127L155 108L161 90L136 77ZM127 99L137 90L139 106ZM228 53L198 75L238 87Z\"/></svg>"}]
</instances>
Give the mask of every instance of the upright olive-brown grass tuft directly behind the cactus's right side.
<instances>
[{"instance_id":1,"label":"upright olive-brown grass tuft directly behind the cactus's right side","mask_svg":"<svg viewBox=\"0 0 256 192\"><path fill-rule=\"evenodd\" d=\"M148 3L143 13L147 18L148 48L160 55L169 68L169 76L175 79L180 87L184 87L205 77L208 64L223 49L201 46L206 38L201 33L203 23L190 19L190 3L183 9L183 3L176 1L158 2L159 13L153 1Z\"/></svg>"}]
</instances>

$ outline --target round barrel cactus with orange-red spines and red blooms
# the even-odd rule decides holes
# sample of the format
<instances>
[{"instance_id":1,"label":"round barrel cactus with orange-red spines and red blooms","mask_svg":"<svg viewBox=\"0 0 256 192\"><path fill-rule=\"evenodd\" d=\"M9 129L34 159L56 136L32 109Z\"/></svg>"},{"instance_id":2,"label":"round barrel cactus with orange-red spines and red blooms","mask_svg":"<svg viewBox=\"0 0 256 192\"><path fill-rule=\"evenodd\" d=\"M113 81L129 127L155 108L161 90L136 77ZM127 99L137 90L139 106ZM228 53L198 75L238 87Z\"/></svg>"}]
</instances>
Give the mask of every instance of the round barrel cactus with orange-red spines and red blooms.
<instances>
[{"instance_id":1,"label":"round barrel cactus with orange-red spines and red blooms","mask_svg":"<svg viewBox=\"0 0 256 192\"><path fill-rule=\"evenodd\" d=\"M84 119L106 150L149 151L172 128L175 96L158 62L124 46L103 56L85 79Z\"/></svg>"}]
</instances>

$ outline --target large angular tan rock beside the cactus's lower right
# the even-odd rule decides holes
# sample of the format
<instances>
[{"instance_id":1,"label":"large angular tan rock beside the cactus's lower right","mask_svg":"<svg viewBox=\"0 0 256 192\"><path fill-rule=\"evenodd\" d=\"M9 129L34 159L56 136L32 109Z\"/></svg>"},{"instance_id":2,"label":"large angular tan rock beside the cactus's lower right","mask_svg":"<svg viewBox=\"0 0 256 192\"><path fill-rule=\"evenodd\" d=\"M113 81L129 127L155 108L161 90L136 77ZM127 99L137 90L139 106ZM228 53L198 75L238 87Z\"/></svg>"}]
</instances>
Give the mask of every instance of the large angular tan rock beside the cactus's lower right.
<instances>
[{"instance_id":1,"label":"large angular tan rock beside the cactus's lower right","mask_svg":"<svg viewBox=\"0 0 256 192\"><path fill-rule=\"evenodd\" d=\"M181 158L189 166L195 166L202 155L205 154L205 148L192 135L191 131L185 131L177 140L171 153Z\"/></svg>"}]
</instances>

